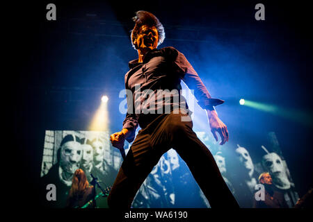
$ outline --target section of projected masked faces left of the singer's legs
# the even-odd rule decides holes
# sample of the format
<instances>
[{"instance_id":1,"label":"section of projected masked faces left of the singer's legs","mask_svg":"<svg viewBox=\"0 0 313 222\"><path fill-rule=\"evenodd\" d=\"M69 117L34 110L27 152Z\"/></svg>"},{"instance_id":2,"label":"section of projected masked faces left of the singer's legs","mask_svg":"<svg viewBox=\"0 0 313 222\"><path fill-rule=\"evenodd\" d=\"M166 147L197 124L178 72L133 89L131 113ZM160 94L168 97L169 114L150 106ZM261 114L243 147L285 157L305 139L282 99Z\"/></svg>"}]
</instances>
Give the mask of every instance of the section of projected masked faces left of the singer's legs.
<instances>
[{"instance_id":1,"label":"section of projected masked faces left of the singer's legs","mask_svg":"<svg viewBox=\"0 0 313 222\"><path fill-rule=\"evenodd\" d=\"M56 185L56 201L43 201L48 207L65 207L74 172L81 168L91 182L91 174L103 189L110 187L122 162L120 153L111 148L107 132L47 130L42 157L40 183ZM101 190L96 189L96 194ZM44 195L44 194L43 194ZM45 196L44 196L45 197ZM97 198L97 207L107 207L106 198Z\"/></svg>"}]
</instances>

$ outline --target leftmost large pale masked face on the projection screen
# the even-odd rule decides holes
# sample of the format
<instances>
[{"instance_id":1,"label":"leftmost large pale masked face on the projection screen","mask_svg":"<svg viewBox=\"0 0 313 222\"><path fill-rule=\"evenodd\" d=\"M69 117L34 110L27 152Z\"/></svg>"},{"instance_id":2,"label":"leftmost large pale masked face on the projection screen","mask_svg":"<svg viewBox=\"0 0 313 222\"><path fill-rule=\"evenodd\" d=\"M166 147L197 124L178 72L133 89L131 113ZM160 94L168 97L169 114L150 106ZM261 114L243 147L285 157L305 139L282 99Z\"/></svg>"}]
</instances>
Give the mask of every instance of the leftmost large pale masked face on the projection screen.
<instances>
[{"instance_id":1,"label":"leftmost large pale masked face on the projection screen","mask_svg":"<svg viewBox=\"0 0 313 222\"><path fill-rule=\"evenodd\" d=\"M79 142L66 142L61 147L60 165L66 173L74 173L79 169L83 151Z\"/></svg>"}]
</instances>

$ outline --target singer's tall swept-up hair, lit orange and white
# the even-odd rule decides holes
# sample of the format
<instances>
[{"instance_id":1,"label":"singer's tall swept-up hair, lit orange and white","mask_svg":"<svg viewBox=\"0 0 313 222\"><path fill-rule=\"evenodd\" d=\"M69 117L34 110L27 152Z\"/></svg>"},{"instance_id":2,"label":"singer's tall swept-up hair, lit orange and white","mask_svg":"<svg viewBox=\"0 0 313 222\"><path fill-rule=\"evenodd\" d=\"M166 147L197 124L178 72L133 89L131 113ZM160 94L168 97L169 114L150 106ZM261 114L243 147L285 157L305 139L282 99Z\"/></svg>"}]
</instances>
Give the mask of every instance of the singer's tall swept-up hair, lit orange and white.
<instances>
[{"instance_id":1,"label":"singer's tall swept-up hair, lit orange and white","mask_svg":"<svg viewBox=\"0 0 313 222\"><path fill-rule=\"evenodd\" d=\"M131 44L136 49L136 46L134 45L134 40L138 37L138 33L141 29L141 26L147 25L147 26L155 26L157 28L157 31L159 33L159 41L158 46L162 44L163 40L165 39L165 31L164 27L159 21L157 17L155 17L151 12L140 10L136 12L136 16L133 17L133 21L135 22L134 29L131 30Z\"/></svg>"}]
</instances>

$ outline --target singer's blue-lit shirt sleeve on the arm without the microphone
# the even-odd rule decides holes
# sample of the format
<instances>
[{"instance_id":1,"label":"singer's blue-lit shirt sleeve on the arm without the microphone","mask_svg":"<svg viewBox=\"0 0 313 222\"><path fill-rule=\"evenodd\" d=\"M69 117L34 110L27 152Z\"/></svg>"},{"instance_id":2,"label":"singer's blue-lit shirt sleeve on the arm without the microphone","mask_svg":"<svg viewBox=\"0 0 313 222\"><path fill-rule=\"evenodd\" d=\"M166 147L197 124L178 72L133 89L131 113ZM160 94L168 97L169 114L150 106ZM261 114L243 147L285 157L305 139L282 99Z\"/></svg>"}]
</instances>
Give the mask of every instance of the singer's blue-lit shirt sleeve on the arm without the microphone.
<instances>
[{"instance_id":1,"label":"singer's blue-lit shirt sleeve on the arm without the microphone","mask_svg":"<svg viewBox=\"0 0 313 222\"><path fill-rule=\"evenodd\" d=\"M211 109L213 106L224 103L223 100L211 98L207 87L204 86L202 80L198 76L195 69L193 69L191 64L188 62L184 54L179 51L175 54L177 54L177 56L175 56L174 64L179 69L180 74L182 74L181 78L184 83L186 83L189 89L193 90L193 94L195 99L198 101L198 105L200 105L202 109L207 110Z\"/></svg>"}]
</instances>

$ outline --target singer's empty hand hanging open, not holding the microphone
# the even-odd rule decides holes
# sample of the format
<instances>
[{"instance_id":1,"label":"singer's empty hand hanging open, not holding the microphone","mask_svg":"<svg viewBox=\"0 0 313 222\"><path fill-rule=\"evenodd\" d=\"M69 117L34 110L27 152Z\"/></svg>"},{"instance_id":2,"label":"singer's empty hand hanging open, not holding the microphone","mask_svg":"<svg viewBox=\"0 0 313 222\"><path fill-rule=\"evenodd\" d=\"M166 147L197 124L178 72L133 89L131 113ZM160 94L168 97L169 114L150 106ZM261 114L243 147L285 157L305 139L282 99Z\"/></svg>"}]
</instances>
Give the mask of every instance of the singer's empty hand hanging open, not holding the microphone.
<instances>
[{"instance_id":1,"label":"singer's empty hand hanging open, not holding the microphone","mask_svg":"<svg viewBox=\"0 0 313 222\"><path fill-rule=\"evenodd\" d=\"M209 118L209 123L211 127L211 132L218 141L218 136L216 132L220 135L220 145L225 144L228 141L228 130L227 126L218 118L218 114L215 110L207 110L207 116Z\"/></svg>"}]
</instances>

